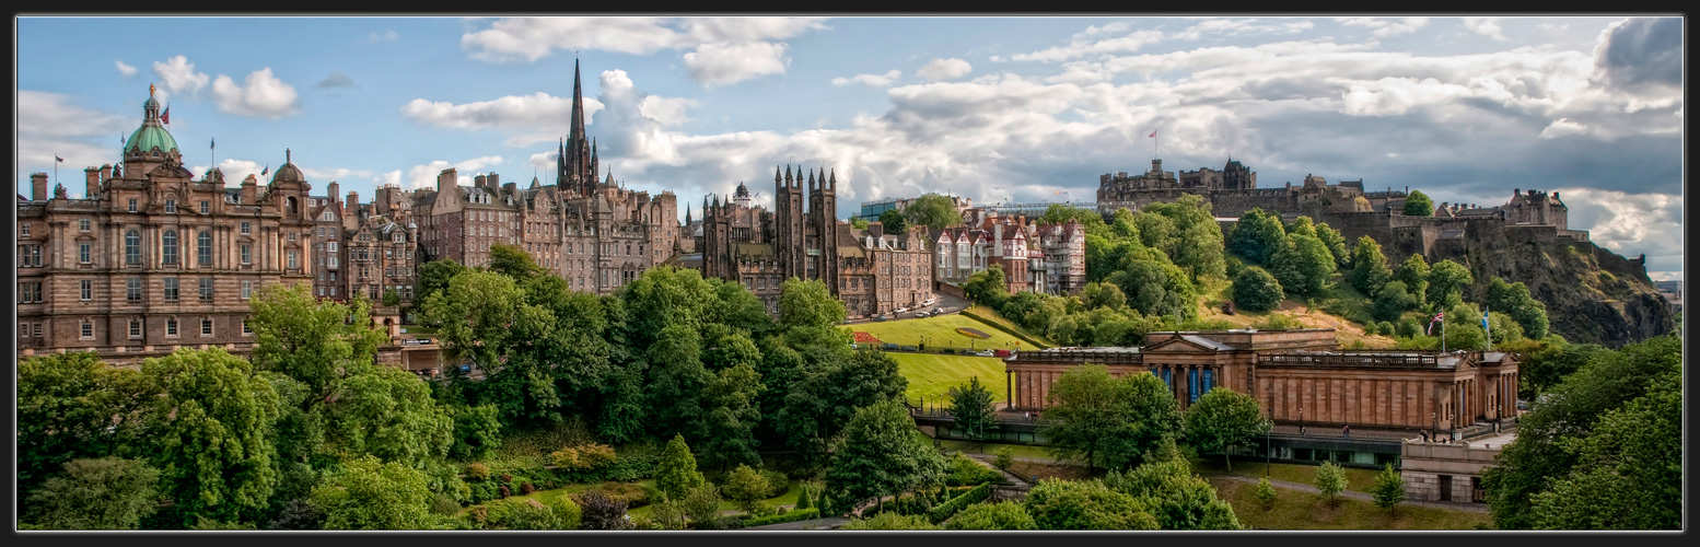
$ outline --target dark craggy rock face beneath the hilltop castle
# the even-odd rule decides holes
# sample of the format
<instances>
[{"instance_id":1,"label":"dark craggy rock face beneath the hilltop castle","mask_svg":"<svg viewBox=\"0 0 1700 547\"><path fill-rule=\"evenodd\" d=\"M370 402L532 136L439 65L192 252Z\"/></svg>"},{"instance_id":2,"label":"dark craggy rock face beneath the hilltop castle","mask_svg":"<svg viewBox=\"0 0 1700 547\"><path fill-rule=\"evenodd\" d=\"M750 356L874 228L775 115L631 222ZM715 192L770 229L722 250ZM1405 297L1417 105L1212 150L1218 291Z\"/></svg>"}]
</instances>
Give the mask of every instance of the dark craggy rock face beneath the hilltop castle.
<instances>
[{"instance_id":1,"label":"dark craggy rock face beneath the hilltop castle","mask_svg":"<svg viewBox=\"0 0 1700 547\"><path fill-rule=\"evenodd\" d=\"M1465 299L1474 302L1486 301L1493 277L1523 282L1547 304L1552 331L1572 343L1615 348L1676 328L1669 306L1647 279L1646 263L1593 241L1537 229L1470 229L1452 245L1436 245L1426 258L1469 267L1476 285Z\"/></svg>"}]
</instances>

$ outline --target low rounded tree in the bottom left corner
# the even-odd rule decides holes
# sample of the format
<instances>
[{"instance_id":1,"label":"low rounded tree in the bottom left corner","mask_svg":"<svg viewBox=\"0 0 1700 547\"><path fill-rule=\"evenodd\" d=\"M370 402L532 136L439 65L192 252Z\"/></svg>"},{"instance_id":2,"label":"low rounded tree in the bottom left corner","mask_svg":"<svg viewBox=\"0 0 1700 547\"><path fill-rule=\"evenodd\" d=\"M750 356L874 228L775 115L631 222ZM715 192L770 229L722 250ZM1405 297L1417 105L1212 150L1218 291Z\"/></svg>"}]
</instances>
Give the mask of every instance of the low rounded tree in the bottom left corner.
<instances>
[{"instance_id":1,"label":"low rounded tree in the bottom left corner","mask_svg":"<svg viewBox=\"0 0 1700 547\"><path fill-rule=\"evenodd\" d=\"M134 530L158 510L160 472L117 457L65 462L29 494L29 522L48 530Z\"/></svg>"}]
</instances>

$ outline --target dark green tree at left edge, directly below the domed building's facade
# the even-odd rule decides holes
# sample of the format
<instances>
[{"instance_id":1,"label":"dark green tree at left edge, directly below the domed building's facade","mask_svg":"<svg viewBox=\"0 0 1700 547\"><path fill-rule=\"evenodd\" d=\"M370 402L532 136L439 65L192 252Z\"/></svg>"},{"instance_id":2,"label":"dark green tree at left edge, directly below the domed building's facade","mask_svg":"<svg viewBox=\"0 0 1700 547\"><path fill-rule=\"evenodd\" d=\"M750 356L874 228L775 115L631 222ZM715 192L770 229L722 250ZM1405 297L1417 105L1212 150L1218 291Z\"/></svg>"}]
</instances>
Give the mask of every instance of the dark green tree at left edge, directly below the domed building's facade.
<instances>
[{"instance_id":1,"label":"dark green tree at left edge, directly below the domed building's facade","mask_svg":"<svg viewBox=\"0 0 1700 547\"><path fill-rule=\"evenodd\" d=\"M49 353L17 364L17 501L75 459L146 457L141 409L156 387L94 352Z\"/></svg>"}]
</instances>

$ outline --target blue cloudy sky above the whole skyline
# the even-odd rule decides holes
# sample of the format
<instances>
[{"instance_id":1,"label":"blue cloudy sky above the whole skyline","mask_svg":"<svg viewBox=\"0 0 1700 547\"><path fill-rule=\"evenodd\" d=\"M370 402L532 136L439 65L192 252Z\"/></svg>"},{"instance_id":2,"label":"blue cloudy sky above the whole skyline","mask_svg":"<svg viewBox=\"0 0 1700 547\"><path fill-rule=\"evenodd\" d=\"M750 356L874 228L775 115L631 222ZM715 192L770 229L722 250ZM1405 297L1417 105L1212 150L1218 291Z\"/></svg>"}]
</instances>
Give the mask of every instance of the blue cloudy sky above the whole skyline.
<instances>
[{"instance_id":1,"label":"blue cloudy sky above the whole skyline","mask_svg":"<svg viewBox=\"0 0 1700 547\"><path fill-rule=\"evenodd\" d=\"M449 166L549 183L576 58L604 168L690 204L738 182L770 202L787 163L836 172L840 217L923 192L1091 200L1153 155L1232 155L1263 187L1559 190L1572 229L1681 275L1681 19L20 17L17 36L26 189L58 155L82 192L148 83L197 173L287 148L314 189L364 199Z\"/></svg>"}]
</instances>

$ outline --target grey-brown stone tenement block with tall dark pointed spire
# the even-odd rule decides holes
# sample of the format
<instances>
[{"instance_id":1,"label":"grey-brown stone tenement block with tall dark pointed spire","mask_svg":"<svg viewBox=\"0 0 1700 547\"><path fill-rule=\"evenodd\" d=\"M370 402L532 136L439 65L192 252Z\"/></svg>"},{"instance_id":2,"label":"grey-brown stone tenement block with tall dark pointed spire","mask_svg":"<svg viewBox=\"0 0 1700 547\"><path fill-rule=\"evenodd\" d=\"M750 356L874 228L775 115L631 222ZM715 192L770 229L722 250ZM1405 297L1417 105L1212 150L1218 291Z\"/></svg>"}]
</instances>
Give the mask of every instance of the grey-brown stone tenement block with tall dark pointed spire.
<instances>
[{"instance_id":1,"label":"grey-brown stone tenement block with tall dark pointed spire","mask_svg":"<svg viewBox=\"0 0 1700 547\"><path fill-rule=\"evenodd\" d=\"M484 267L493 245L513 245L571 289L612 294L678 251L678 202L673 192L627 190L612 173L598 180L597 168L575 63L571 127L556 156L554 183L532 178L518 189L486 173L462 187L456 170L444 170L435 189L416 190L411 200L420 262Z\"/></svg>"}]
</instances>

